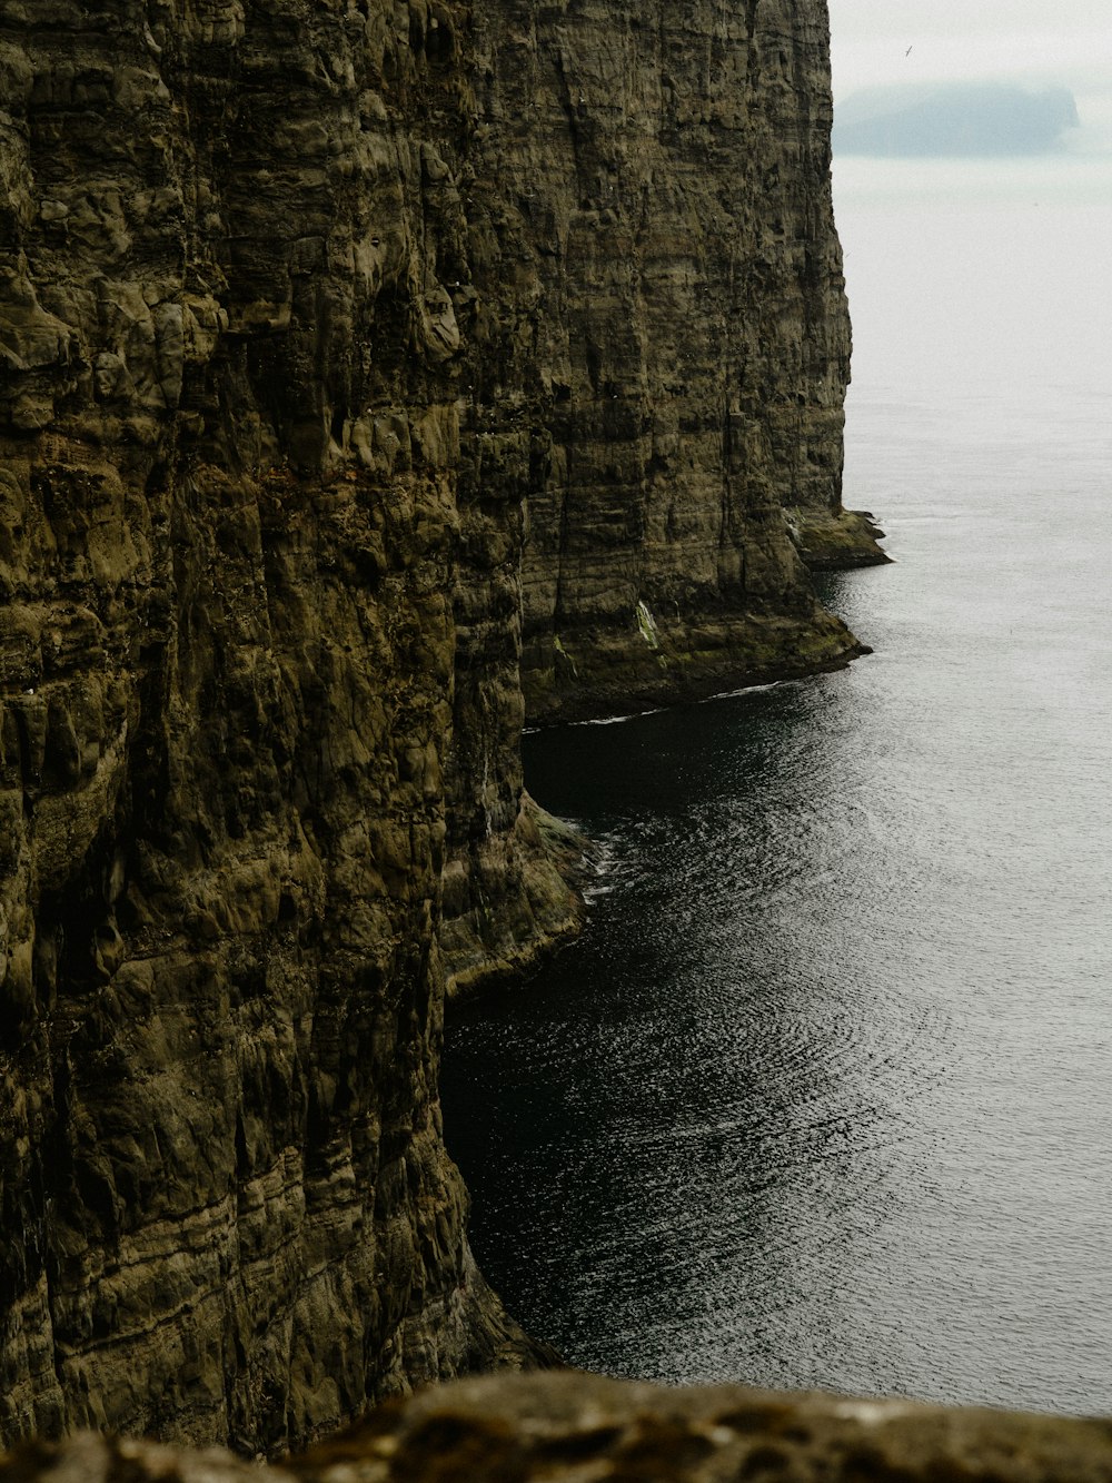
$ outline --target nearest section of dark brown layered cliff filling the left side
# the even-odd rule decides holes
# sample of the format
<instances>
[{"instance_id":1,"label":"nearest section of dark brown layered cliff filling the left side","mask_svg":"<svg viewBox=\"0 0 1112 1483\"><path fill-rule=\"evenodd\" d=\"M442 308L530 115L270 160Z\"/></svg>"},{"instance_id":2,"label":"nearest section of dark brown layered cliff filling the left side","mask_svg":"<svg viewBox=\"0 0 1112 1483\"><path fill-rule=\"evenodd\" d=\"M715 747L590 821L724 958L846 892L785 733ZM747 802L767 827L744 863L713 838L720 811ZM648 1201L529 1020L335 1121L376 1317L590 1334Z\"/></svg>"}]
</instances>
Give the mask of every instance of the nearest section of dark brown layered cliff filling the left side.
<instances>
[{"instance_id":1,"label":"nearest section of dark brown layered cliff filling the left side","mask_svg":"<svg viewBox=\"0 0 1112 1483\"><path fill-rule=\"evenodd\" d=\"M9 1439L285 1447L534 1355L436 1096L457 28L0 9Z\"/></svg>"}]
</instances>

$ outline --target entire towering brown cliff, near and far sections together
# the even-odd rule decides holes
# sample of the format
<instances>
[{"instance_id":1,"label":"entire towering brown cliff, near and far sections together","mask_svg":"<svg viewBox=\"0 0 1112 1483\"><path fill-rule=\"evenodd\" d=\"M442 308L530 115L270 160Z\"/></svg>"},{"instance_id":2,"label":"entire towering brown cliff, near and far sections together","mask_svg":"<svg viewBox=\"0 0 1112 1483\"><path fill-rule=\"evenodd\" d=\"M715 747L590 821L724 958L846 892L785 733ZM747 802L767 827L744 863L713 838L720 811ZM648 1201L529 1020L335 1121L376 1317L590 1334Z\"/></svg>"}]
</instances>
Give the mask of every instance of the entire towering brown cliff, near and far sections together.
<instances>
[{"instance_id":1,"label":"entire towering brown cliff, near and far sections together","mask_svg":"<svg viewBox=\"0 0 1112 1483\"><path fill-rule=\"evenodd\" d=\"M3 1439L544 1360L436 1093L577 922L522 644L549 715L854 650L824 10L688 10L0 4Z\"/></svg>"}]
</instances>

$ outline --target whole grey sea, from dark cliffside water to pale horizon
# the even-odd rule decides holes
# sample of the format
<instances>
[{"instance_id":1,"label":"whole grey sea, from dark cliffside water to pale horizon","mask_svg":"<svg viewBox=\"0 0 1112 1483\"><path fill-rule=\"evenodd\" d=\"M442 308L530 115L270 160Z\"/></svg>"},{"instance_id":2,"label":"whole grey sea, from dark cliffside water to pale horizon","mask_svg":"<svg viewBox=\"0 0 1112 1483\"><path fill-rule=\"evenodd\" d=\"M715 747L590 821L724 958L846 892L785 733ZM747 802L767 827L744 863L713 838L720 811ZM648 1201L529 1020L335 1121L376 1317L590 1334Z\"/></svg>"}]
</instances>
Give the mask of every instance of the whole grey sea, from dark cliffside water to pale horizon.
<instances>
[{"instance_id":1,"label":"whole grey sea, from dark cliffside water to pale horizon","mask_svg":"<svg viewBox=\"0 0 1112 1483\"><path fill-rule=\"evenodd\" d=\"M848 670L526 737L583 939L445 1133L577 1366L1112 1413L1112 160L836 163Z\"/></svg>"}]
</instances>

